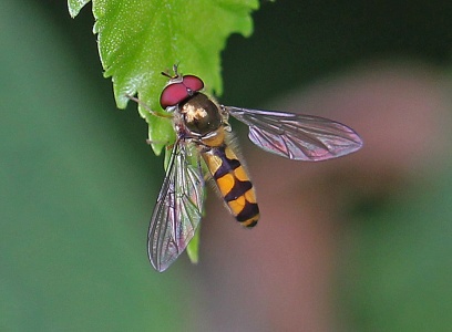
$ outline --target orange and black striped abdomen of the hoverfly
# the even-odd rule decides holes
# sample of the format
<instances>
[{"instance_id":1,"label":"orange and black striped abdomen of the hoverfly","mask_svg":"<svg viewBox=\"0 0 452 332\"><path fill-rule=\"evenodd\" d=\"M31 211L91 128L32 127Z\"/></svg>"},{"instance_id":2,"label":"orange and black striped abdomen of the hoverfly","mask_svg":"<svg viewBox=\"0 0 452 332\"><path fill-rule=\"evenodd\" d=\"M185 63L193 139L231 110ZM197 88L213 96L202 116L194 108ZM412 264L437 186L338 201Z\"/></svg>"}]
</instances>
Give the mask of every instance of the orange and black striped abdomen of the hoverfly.
<instances>
[{"instance_id":1,"label":"orange and black striped abdomen of the hoverfly","mask_svg":"<svg viewBox=\"0 0 452 332\"><path fill-rule=\"evenodd\" d=\"M249 176L234 151L223 144L202 153L204 160L234 217L245 227L254 227L259 207Z\"/></svg>"}]
</instances>

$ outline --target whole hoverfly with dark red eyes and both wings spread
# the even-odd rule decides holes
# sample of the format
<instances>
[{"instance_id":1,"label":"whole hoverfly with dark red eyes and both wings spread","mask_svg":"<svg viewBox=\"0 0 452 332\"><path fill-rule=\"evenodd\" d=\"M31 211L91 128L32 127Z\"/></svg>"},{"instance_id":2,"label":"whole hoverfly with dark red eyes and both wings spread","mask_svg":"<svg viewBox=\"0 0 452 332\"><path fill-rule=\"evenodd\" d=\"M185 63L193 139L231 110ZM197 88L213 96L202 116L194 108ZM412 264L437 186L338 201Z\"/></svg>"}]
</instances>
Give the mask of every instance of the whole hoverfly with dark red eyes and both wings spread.
<instances>
[{"instance_id":1,"label":"whole hoverfly with dark red eyes and both wings spread","mask_svg":"<svg viewBox=\"0 0 452 332\"><path fill-rule=\"evenodd\" d=\"M185 250L195 235L204 207L206 173L227 208L244 227L259 218L248 173L232 144L228 117L249 127L249 139L266 152L294 160L325 160L358 151L359 135L338 122L286 112L224 106L202 92L195 75L162 73L170 80L160 103L172 115L176 142L148 230L148 257L160 272Z\"/></svg>"}]
</instances>

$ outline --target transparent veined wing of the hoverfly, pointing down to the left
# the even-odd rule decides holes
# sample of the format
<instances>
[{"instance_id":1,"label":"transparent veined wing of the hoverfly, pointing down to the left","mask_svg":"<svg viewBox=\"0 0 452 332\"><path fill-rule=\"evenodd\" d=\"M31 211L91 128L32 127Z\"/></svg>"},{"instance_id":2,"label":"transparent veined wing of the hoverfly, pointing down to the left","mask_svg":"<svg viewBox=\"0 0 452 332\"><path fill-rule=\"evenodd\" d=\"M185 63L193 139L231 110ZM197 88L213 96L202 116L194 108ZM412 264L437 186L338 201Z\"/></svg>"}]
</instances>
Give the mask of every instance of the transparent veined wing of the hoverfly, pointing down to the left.
<instances>
[{"instance_id":1,"label":"transparent veined wing of the hoverfly, pointing down to the left","mask_svg":"<svg viewBox=\"0 0 452 332\"><path fill-rule=\"evenodd\" d=\"M185 250L203 214L204 177L199 155L188 149L185 142L175 143L151 218L147 251L151 263L160 272Z\"/></svg>"}]
</instances>

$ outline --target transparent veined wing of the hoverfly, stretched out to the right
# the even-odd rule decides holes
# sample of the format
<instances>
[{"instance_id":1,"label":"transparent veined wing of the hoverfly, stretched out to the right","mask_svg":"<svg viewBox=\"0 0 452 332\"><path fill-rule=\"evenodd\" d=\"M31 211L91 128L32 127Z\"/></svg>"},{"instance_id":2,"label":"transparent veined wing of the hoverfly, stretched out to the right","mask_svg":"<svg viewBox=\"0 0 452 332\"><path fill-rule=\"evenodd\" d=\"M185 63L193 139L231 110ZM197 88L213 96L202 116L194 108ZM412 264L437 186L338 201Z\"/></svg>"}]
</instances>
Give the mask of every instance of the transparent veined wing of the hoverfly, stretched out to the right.
<instances>
[{"instance_id":1,"label":"transparent veined wing of the hoverfly, stretched out to the right","mask_svg":"<svg viewBox=\"0 0 452 332\"><path fill-rule=\"evenodd\" d=\"M362 139L350 127L318 116L223 106L249 126L260 148L295 160L325 160L358 151Z\"/></svg>"}]
</instances>

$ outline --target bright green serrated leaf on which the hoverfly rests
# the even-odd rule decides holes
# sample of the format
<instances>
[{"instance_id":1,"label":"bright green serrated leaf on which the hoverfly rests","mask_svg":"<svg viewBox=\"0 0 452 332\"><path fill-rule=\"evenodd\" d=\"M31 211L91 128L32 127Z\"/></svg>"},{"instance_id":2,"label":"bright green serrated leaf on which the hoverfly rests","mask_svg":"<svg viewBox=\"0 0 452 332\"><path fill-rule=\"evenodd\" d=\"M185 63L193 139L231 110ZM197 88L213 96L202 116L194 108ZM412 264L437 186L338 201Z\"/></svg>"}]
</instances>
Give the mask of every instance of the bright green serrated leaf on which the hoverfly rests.
<instances>
[{"instance_id":1,"label":"bright green serrated leaf on which the hoverfly rests","mask_svg":"<svg viewBox=\"0 0 452 332\"><path fill-rule=\"evenodd\" d=\"M70 0L71 14L85 0ZM160 93L166 83L161 75L173 64L179 72L201 76L208 93L222 93L219 52L232 33L249 35L251 10L257 0L103 0L93 1L99 51L105 77L112 76L116 104L124 108L126 95L138 94L150 108L160 112ZM138 105L150 125L148 138L160 154L174 142L171 121L156 118Z\"/></svg>"}]
</instances>

